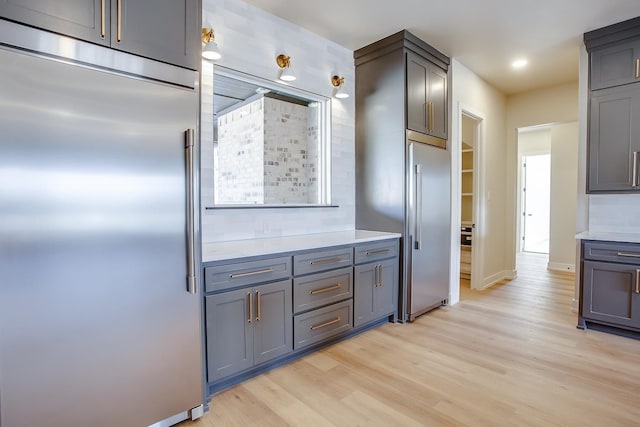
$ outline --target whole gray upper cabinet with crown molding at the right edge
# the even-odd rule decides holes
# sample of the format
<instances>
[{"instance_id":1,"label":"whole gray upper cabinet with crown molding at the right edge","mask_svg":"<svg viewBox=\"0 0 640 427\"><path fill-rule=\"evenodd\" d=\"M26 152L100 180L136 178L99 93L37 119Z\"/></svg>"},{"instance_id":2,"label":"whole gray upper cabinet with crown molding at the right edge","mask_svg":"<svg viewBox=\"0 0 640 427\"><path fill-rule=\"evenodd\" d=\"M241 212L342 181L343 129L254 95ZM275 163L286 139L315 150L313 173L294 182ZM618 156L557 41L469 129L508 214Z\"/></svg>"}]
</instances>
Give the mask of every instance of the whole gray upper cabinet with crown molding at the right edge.
<instances>
[{"instance_id":1,"label":"whole gray upper cabinet with crown molding at the right edge","mask_svg":"<svg viewBox=\"0 0 640 427\"><path fill-rule=\"evenodd\" d=\"M584 35L589 52L587 192L640 189L640 18Z\"/></svg>"}]
</instances>

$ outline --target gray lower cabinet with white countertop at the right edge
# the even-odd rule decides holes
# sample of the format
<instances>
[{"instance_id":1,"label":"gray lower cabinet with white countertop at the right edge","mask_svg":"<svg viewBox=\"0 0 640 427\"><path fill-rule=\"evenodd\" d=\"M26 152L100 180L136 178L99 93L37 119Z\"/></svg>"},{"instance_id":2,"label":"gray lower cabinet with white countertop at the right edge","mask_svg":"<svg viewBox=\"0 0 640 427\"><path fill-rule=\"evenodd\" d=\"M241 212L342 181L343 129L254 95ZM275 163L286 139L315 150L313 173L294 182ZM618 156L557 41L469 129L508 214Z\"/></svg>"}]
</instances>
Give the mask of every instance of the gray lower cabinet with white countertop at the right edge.
<instances>
[{"instance_id":1,"label":"gray lower cabinet with white countertop at the right edge","mask_svg":"<svg viewBox=\"0 0 640 427\"><path fill-rule=\"evenodd\" d=\"M640 245L586 241L582 258L579 327L640 331Z\"/></svg>"}]
</instances>

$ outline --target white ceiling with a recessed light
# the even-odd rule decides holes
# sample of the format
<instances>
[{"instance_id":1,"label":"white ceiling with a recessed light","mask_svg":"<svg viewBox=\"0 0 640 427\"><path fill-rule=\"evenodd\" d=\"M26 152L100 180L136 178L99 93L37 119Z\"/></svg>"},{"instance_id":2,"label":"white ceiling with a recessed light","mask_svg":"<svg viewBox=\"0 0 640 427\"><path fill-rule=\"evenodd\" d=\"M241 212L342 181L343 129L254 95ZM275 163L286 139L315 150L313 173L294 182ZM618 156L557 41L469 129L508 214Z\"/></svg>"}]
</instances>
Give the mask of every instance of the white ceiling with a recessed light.
<instances>
[{"instance_id":1,"label":"white ceiling with a recessed light","mask_svg":"<svg viewBox=\"0 0 640 427\"><path fill-rule=\"evenodd\" d=\"M407 29L507 95L576 81L582 34L640 16L640 0L245 1L351 50Z\"/></svg>"}]
</instances>

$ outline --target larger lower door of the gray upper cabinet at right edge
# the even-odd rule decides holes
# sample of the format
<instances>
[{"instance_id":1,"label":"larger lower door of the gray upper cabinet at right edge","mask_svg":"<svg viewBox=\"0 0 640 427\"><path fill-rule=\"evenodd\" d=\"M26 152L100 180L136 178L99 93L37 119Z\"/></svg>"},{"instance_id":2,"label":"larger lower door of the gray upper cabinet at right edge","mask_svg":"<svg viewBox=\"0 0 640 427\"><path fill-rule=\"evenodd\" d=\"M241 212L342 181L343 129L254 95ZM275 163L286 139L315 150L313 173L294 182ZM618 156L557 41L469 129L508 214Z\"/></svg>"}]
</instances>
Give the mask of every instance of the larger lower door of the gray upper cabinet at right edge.
<instances>
[{"instance_id":1,"label":"larger lower door of the gray upper cabinet at right edge","mask_svg":"<svg viewBox=\"0 0 640 427\"><path fill-rule=\"evenodd\" d=\"M640 169L637 163L640 162L639 117L640 85L604 89L591 97L589 192L637 190Z\"/></svg>"}]
</instances>

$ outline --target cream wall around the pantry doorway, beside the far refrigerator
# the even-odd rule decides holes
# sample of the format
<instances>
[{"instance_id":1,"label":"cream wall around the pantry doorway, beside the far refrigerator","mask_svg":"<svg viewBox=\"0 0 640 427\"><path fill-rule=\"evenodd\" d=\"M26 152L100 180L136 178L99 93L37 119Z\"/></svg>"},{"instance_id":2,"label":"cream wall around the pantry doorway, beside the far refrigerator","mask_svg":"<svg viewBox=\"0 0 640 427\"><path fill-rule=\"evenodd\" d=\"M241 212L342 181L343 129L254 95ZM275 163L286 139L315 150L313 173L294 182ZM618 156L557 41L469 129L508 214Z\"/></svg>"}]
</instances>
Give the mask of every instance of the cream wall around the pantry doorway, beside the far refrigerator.
<instances>
[{"instance_id":1,"label":"cream wall around the pantry doorway, beside the far refrigerator","mask_svg":"<svg viewBox=\"0 0 640 427\"><path fill-rule=\"evenodd\" d=\"M474 282L478 287L493 284L510 272L505 271L504 253L504 212L505 212L505 133L506 98L487 84L471 70L458 62L451 61L451 154L452 154L452 189L460 188L460 134L462 124L460 112L466 111L477 118L480 123L480 141L474 155L478 156L480 170L477 174L477 197L481 205L479 218L475 218L476 229L474 255L479 263L472 266ZM476 195L474 194L474 197ZM451 237L452 263L459 265L460 200L452 198L453 232ZM479 257L478 257L479 256ZM449 301L458 302L459 269L451 269L451 294Z\"/></svg>"}]
</instances>

